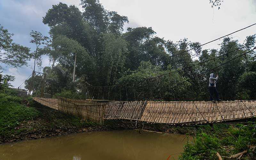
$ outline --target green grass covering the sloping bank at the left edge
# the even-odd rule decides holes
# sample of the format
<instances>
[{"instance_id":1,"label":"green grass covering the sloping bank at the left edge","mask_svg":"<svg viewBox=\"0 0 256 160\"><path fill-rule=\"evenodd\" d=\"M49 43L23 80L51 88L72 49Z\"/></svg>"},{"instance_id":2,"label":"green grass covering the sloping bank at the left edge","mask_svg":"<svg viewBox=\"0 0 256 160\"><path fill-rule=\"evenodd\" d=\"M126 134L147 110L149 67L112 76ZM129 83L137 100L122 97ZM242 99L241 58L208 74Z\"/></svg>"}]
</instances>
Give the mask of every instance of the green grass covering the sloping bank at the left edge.
<instances>
[{"instance_id":1,"label":"green grass covering the sloping bank at the left edge","mask_svg":"<svg viewBox=\"0 0 256 160\"><path fill-rule=\"evenodd\" d=\"M25 103L29 107L22 105ZM36 120L40 118L40 125L32 125L30 130L44 128L84 128L93 127L92 122L80 122L80 118L60 113L53 110L40 110L35 107L35 101L29 97L21 99L9 93L0 92L0 136L10 137L12 134L19 134L27 130L26 128L17 129L24 120Z\"/></svg>"}]
</instances>

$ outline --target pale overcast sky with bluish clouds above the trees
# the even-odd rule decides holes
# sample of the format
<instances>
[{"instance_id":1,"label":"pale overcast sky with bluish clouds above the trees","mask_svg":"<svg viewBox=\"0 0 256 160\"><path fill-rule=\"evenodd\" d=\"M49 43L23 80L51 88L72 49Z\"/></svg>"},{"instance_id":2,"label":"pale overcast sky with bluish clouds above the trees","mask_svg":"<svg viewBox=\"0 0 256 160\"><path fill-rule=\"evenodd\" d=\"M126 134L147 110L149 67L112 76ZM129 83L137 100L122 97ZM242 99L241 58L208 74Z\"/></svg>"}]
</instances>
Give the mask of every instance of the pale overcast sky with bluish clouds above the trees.
<instances>
[{"instance_id":1,"label":"pale overcast sky with bluish clouds above the trees","mask_svg":"<svg viewBox=\"0 0 256 160\"><path fill-rule=\"evenodd\" d=\"M59 2L75 4L81 9L80 0L1 0L0 24L14 34L15 43L34 50L35 46L29 43L29 33L36 30L49 36L49 28L42 23L42 17L52 8L52 4ZM209 0L100 0L100 3L105 9L128 17L130 22L124 29L152 27L157 36L174 42L186 37L189 41L203 44L256 23L256 0L224 0L220 10L212 9ZM256 26L253 26L232 37L243 43L246 36L255 33ZM218 49L220 42L207 44L203 48ZM45 66L49 66L46 56L43 59ZM5 67L4 74L15 76L12 85L18 87L32 70L31 66Z\"/></svg>"}]
</instances>

